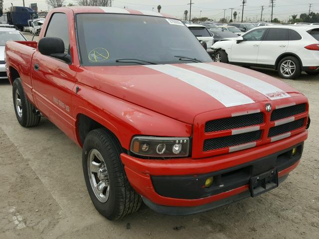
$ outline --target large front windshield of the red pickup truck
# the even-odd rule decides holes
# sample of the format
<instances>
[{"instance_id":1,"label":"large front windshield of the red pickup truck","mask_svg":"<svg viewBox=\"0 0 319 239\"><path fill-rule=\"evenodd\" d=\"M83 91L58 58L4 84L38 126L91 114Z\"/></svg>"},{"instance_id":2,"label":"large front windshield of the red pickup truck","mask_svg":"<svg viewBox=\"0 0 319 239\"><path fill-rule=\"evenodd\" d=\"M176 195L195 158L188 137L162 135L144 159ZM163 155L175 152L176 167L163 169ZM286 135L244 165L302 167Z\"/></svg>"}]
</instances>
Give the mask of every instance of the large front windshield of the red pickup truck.
<instances>
[{"instance_id":1,"label":"large front windshield of the red pickup truck","mask_svg":"<svg viewBox=\"0 0 319 239\"><path fill-rule=\"evenodd\" d=\"M179 20L84 13L76 15L76 27L81 63L86 66L191 62L176 56L212 61L196 37ZM207 34L210 36L208 31Z\"/></svg>"}]
</instances>

